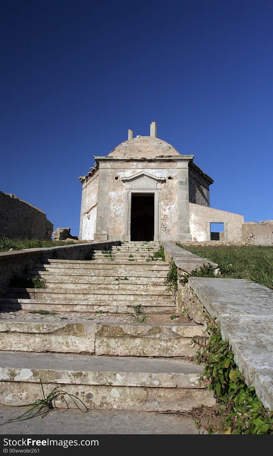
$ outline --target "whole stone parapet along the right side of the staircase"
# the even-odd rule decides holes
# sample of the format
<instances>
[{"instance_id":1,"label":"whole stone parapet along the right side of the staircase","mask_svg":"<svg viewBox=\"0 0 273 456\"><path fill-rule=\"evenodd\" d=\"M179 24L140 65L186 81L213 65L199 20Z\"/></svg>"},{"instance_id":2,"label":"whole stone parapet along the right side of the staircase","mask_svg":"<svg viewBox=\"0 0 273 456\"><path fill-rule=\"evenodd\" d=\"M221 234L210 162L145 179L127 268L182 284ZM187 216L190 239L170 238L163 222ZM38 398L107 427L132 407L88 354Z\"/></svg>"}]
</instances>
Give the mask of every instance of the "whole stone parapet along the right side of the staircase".
<instances>
[{"instance_id":1,"label":"whole stone parapet along the right side of the staircase","mask_svg":"<svg viewBox=\"0 0 273 456\"><path fill-rule=\"evenodd\" d=\"M178 277L190 272L194 262L207 262L170 242L162 245L167 261L175 261ZM207 314L216 317L247 385L273 410L273 290L249 280L189 277L186 285L178 280L174 298L177 314L185 311L197 323L206 323Z\"/></svg>"}]
</instances>

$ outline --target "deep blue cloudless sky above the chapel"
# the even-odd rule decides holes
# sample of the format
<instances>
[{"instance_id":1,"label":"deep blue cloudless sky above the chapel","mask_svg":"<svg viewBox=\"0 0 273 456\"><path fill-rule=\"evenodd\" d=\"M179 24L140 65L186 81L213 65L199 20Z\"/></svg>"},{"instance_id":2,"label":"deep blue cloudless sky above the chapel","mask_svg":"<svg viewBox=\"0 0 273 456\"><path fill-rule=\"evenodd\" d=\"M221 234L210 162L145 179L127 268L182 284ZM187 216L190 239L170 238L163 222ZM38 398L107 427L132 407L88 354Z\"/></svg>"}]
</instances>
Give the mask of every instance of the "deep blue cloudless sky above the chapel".
<instances>
[{"instance_id":1,"label":"deep blue cloudless sky above the chapel","mask_svg":"<svg viewBox=\"0 0 273 456\"><path fill-rule=\"evenodd\" d=\"M79 230L93 155L158 136L211 207L273 219L272 1L12 1L1 11L0 190Z\"/></svg>"}]
</instances>

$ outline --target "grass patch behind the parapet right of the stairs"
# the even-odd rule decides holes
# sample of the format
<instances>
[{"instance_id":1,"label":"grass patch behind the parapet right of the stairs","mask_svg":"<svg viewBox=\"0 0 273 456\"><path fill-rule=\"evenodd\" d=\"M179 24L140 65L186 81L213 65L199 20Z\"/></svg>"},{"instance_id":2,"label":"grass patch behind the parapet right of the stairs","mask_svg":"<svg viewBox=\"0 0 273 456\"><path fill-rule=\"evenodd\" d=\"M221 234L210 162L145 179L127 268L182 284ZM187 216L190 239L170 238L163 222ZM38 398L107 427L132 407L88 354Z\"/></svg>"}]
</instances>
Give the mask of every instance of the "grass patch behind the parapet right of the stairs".
<instances>
[{"instance_id":1,"label":"grass patch behind the parapet right of the stairs","mask_svg":"<svg viewBox=\"0 0 273 456\"><path fill-rule=\"evenodd\" d=\"M254 245L204 245L177 243L182 249L219 265L223 278L248 279L273 289L273 247Z\"/></svg>"}]
</instances>

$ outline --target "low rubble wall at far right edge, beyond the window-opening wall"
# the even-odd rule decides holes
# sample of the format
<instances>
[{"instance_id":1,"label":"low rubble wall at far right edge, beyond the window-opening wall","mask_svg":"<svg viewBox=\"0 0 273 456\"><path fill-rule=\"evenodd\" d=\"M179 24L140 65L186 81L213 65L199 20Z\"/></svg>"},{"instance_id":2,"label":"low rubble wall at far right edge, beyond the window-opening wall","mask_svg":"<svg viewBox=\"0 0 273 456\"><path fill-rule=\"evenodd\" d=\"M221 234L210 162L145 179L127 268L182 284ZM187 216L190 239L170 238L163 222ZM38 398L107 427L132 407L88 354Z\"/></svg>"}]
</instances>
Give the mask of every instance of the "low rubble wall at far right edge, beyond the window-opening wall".
<instances>
[{"instance_id":1,"label":"low rubble wall at far right edge, beyond the window-opening wall","mask_svg":"<svg viewBox=\"0 0 273 456\"><path fill-rule=\"evenodd\" d=\"M253 245L273 245L273 220L244 223L242 240Z\"/></svg>"}]
</instances>

